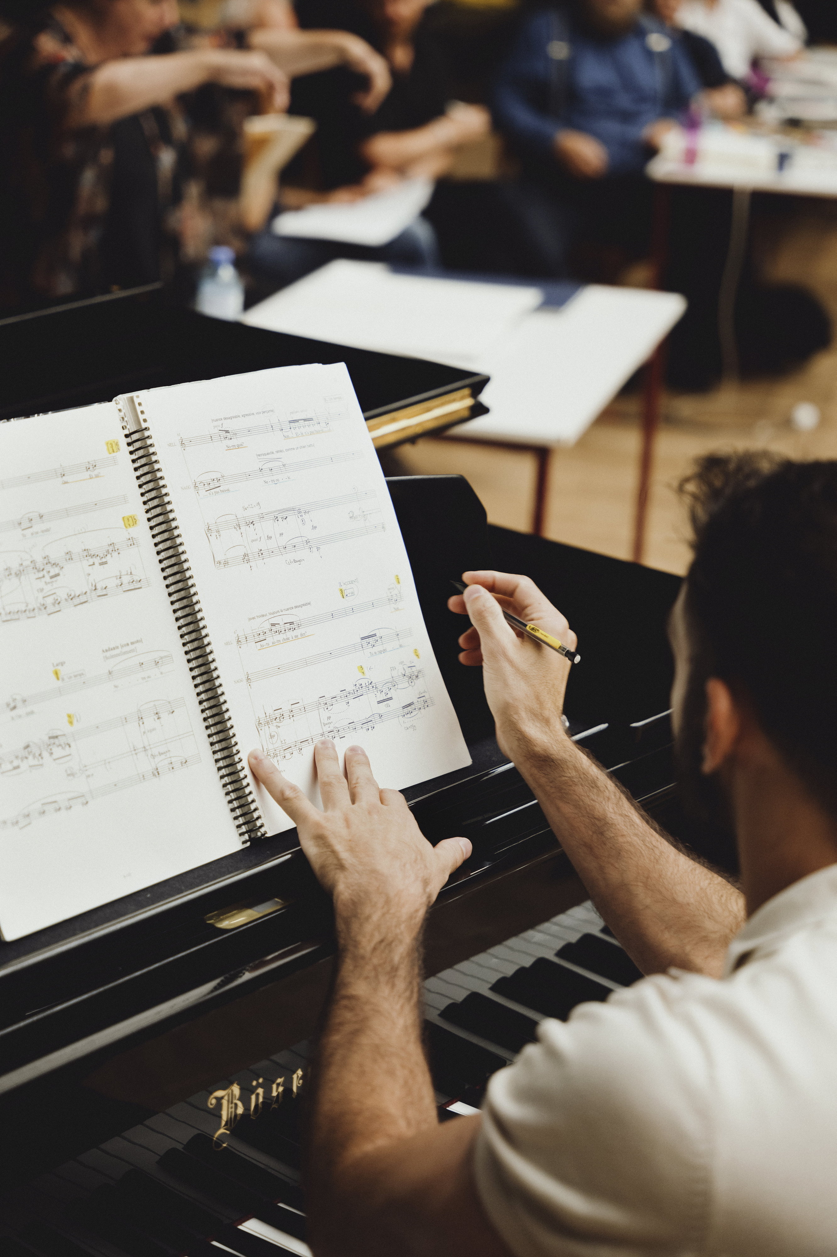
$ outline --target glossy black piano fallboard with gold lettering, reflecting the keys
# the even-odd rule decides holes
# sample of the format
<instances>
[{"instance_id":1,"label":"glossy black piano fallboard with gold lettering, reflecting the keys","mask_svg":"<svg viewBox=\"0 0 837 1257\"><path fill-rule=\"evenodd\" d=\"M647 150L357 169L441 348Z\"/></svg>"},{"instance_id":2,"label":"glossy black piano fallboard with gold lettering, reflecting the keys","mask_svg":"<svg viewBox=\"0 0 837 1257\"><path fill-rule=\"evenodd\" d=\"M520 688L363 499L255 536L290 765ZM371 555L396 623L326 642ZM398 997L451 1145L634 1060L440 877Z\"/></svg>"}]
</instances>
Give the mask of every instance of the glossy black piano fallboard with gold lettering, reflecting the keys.
<instances>
[{"instance_id":1,"label":"glossy black piano fallboard with gold lettering, reflecting the keys","mask_svg":"<svg viewBox=\"0 0 837 1257\"><path fill-rule=\"evenodd\" d=\"M638 977L589 903L429 978L425 1031L440 1120L475 1111L534 1037ZM307 1257L300 1178L310 1045L215 1079L167 1111L4 1199L6 1257ZM347 1080L359 1089L371 1079Z\"/></svg>"}]
</instances>

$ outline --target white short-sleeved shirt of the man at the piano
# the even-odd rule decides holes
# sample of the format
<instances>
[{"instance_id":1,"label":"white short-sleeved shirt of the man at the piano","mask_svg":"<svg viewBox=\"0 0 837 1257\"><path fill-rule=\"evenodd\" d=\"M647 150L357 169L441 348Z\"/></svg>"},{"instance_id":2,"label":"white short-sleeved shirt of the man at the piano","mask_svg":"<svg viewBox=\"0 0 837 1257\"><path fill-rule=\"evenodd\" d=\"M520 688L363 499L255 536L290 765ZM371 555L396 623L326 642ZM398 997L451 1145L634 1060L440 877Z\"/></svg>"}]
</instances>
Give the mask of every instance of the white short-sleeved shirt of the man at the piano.
<instances>
[{"instance_id":1,"label":"white short-sleeved shirt of the man at the piano","mask_svg":"<svg viewBox=\"0 0 837 1257\"><path fill-rule=\"evenodd\" d=\"M759 908L723 979L543 1021L490 1082L475 1174L515 1257L837 1253L837 865Z\"/></svg>"}]
</instances>

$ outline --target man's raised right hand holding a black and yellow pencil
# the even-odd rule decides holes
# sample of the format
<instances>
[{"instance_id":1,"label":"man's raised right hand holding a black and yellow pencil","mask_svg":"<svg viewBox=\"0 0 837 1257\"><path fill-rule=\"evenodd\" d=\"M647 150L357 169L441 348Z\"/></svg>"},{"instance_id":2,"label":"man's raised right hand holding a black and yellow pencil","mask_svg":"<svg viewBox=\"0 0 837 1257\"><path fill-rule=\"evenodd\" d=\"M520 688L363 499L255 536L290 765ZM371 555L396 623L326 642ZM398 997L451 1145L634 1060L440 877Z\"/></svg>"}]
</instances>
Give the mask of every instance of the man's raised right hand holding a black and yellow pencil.
<instances>
[{"instance_id":1,"label":"man's raised right hand holding a black and yellow pencil","mask_svg":"<svg viewBox=\"0 0 837 1257\"><path fill-rule=\"evenodd\" d=\"M447 602L451 611L471 620L471 627L459 639L459 657L469 666L483 665L485 698L500 749L514 759L524 747L544 742L554 747L564 737L561 714L572 665L563 655L518 634L503 618L501 608L538 625L571 649L576 634L528 576L464 572L462 581L469 588Z\"/></svg>"}]
</instances>

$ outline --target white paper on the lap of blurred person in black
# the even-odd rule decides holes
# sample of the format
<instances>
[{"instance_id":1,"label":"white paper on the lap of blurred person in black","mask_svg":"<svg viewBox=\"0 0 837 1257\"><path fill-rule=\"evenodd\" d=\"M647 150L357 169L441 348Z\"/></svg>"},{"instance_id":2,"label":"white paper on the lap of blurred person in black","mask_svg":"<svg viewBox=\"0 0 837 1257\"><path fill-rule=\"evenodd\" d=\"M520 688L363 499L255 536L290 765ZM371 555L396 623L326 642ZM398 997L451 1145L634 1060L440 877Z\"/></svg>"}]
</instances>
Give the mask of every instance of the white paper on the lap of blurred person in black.
<instances>
[{"instance_id":1,"label":"white paper on the lap of blurred person in black","mask_svg":"<svg viewBox=\"0 0 837 1257\"><path fill-rule=\"evenodd\" d=\"M380 248L400 236L418 217L432 195L432 180L407 178L396 187L375 192L362 201L285 210L276 215L270 230L280 236L339 240L344 244Z\"/></svg>"}]
</instances>

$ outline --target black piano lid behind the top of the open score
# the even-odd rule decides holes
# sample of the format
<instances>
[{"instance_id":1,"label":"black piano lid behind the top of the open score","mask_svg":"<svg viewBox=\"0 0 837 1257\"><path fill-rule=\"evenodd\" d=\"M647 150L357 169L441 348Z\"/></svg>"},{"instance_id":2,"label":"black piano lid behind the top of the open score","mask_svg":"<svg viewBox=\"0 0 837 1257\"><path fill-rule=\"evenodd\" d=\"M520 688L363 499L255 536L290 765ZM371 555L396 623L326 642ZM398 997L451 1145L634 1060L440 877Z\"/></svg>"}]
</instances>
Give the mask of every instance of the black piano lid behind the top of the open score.
<instances>
[{"instance_id":1,"label":"black piano lid behind the top of the open score","mask_svg":"<svg viewBox=\"0 0 837 1257\"><path fill-rule=\"evenodd\" d=\"M307 362L344 362L366 419L459 388L478 397L488 382L439 362L207 318L157 285L0 319L0 420Z\"/></svg>"}]
</instances>

